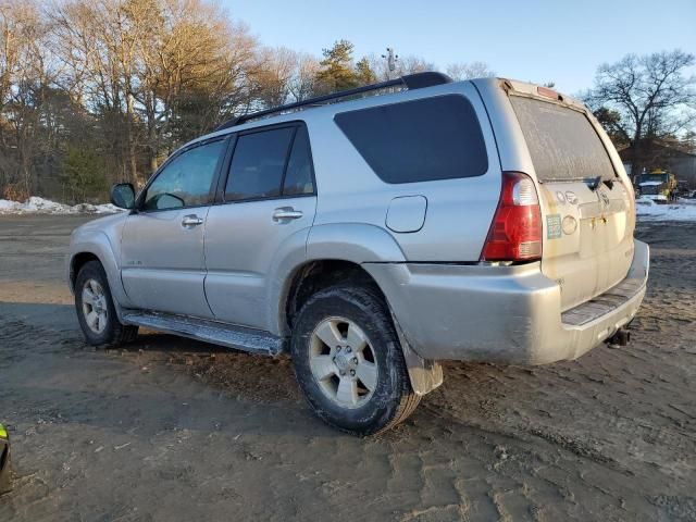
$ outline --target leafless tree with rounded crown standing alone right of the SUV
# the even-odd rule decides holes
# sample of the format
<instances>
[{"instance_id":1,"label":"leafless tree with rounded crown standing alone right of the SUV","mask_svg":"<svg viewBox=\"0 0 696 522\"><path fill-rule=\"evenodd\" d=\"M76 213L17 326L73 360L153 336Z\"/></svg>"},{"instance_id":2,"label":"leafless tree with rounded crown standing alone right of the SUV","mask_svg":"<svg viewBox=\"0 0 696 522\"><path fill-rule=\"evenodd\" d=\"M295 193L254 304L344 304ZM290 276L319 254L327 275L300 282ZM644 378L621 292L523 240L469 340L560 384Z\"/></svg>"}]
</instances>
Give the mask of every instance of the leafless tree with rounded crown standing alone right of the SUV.
<instances>
[{"instance_id":1,"label":"leafless tree with rounded crown standing alone right of the SUV","mask_svg":"<svg viewBox=\"0 0 696 522\"><path fill-rule=\"evenodd\" d=\"M685 76L694 55L681 50L638 57L629 54L602 64L586 101L608 130L633 147L632 172L644 166L657 139L674 136L694 122L696 78Z\"/></svg>"}]
</instances>

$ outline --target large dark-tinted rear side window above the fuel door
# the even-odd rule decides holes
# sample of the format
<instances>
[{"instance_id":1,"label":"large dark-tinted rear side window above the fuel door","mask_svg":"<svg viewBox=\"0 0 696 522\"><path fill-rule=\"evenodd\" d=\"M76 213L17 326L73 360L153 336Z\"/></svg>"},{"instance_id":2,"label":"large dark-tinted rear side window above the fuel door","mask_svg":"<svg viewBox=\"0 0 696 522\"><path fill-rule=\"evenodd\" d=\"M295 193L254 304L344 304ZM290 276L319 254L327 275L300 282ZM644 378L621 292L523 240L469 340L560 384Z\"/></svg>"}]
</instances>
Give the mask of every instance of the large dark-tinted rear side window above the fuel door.
<instances>
[{"instance_id":1,"label":"large dark-tinted rear side window above the fuel door","mask_svg":"<svg viewBox=\"0 0 696 522\"><path fill-rule=\"evenodd\" d=\"M386 183L480 176L488 170L478 120L461 96L344 112L335 121Z\"/></svg>"}]
</instances>

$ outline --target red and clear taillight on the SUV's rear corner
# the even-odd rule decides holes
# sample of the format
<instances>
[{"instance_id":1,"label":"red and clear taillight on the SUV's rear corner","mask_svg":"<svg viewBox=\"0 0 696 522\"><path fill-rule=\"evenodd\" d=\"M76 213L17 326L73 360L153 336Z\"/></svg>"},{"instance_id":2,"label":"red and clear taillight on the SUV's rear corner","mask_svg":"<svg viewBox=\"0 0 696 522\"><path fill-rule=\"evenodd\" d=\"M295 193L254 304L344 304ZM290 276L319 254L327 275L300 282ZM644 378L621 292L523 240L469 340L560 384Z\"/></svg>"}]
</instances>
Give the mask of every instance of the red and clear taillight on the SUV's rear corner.
<instances>
[{"instance_id":1,"label":"red and clear taillight on the SUV's rear corner","mask_svg":"<svg viewBox=\"0 0 696 522\"><path fill-rule=\"evenodd\" d=\"M504 172L502 189L482 261L542 259L542 209L534 182L521 172Z\"/></svg>"}]
</instances>

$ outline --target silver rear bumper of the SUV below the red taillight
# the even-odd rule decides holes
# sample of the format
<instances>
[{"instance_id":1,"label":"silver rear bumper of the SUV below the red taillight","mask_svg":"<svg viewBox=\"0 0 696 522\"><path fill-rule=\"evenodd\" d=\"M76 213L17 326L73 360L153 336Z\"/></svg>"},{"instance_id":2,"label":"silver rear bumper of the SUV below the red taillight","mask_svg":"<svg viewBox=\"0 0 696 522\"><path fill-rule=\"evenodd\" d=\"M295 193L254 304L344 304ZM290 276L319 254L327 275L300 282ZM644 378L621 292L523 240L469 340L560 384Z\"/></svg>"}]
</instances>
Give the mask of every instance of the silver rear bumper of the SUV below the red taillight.
<instances>
[{"instance_id":1,"label":"silver rear bumper of the SUV below the red taillight","mask_svg":"<svg viewBox=\"0 0 696 522\"><path fill-rule=\"evenodd\" d=\"M566 312L560 287L542 274L538 263L364 268L424 359L544 364L582 356L635 316L645 296L649 250L635 240L626 278Z\"/></svg>"}]
</instances>

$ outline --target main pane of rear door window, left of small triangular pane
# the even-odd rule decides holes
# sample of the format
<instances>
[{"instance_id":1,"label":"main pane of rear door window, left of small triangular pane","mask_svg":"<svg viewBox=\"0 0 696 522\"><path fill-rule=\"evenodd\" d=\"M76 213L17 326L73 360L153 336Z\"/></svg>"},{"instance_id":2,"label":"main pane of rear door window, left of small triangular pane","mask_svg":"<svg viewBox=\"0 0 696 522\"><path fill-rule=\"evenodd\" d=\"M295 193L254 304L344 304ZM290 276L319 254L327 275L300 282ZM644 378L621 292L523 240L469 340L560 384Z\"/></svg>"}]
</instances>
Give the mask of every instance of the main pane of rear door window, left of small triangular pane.
<instances>
[{"instance_id":1,"label":"main pane of rear door window, left of small triangular pane","mask_svg":"<svg viewBox=\"0 0 696 522\"><path fill-rule=\"evenodd\" d=\"M229 165L225 200L279 196L294 133L294 127L285 127L239 136Z\"/></svg>"}]
</instances>

